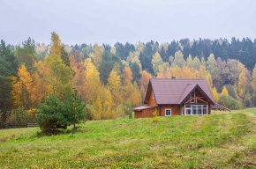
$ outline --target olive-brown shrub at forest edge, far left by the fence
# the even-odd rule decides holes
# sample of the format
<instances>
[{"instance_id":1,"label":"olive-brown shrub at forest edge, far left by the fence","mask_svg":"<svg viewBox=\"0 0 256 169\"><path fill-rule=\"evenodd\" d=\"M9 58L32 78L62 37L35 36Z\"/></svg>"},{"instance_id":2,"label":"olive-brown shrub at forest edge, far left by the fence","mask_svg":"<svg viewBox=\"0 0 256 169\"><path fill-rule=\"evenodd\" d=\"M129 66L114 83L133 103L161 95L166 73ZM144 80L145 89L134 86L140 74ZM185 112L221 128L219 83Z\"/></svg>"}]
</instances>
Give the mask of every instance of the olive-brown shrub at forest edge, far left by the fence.
<instances>
[{"instance_id":1,"label":"olive-brown shrub at forest edge, far left by the fence","mask_svg":"<svg viewBox=\"0 0 256 169\"><path fill-rule=\"evenodd\" d=\"M26 126L26 123L31 121L34 121L34 114L31 114L23 108L12 110L7 117L7 124L11 126Z\"/></svg>"}]
</instances>

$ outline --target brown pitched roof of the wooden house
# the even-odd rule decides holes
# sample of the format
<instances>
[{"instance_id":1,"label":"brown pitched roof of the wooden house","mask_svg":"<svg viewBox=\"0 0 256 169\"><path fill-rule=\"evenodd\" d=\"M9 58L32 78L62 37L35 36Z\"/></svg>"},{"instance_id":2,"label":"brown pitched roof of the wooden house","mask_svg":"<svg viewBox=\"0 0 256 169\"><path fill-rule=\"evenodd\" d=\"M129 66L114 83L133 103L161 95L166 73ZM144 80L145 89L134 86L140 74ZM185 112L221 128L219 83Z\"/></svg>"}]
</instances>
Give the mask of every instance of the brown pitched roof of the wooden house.
<instances>
[{"instance_id":1,"label":"brown pitched roof of the wooden house","mask_svg":"<svg viewBox=\"0 0 256 169\"><path fill-rule=\"evenodd\" d=\"M180 104L196 87L205 92L207 98L214 102L205 79L153 78L149 83L152 84L157 104Z\"/></svg>"}]
</instances>

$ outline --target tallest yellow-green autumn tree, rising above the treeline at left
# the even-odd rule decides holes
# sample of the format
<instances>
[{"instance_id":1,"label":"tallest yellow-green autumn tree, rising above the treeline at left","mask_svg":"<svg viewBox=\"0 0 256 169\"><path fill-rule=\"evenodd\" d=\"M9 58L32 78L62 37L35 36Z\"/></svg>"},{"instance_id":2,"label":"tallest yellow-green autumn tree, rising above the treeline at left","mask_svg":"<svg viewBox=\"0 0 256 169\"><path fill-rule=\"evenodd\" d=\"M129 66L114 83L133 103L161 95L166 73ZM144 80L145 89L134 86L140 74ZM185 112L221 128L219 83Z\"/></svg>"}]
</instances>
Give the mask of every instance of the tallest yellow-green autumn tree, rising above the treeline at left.
<instances>
[{"instance_id":1,"label":"tallest yellow-green autumn tree, rising above the treeline at left","mask_svg":"<svg viewBox=\"0 0 256 169\"><path fill-rule=\"evenodd\" d=\"M53 93L57 99L64 100L72 96L72 69L61 58L62 43L56 33L52 33L51 44L50 55L35 64L37 80L34 83L44 99Z\"/></svg>"}]
</instances>

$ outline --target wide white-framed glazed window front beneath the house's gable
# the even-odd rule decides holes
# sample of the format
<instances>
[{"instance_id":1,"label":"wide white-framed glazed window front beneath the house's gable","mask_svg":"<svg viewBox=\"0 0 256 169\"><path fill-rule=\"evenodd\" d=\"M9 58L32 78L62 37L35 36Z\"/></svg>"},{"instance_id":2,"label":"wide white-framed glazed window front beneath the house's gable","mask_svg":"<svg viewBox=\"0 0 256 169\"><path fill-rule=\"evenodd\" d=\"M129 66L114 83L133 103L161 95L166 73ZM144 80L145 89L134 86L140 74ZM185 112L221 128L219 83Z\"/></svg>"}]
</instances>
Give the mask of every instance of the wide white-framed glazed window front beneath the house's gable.
<instances>
[{"instance_id":1,"label":"wide white-framed glazed window front beneath the house's gable","mask_svg":"<svg viewBox=\"0 0 256 169\"><path fill-rule=\"evenodd\" d=\"M186 115L205 115L207 109L207 105L186 105L184 112Z\"/></svg>"}]
</instances>

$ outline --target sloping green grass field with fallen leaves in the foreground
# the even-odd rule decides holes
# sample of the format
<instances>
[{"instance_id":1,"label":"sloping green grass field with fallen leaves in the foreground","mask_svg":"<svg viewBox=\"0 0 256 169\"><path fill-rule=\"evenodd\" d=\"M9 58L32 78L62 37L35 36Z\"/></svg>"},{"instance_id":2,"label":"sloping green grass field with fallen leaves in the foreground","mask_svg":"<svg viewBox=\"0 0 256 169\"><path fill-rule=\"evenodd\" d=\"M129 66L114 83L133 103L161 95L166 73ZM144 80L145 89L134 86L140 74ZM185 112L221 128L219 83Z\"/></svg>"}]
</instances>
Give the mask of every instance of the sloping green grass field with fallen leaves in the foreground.
<instances>
[{"instance_id":1,"label":"sloping green grass field with fallen leaves in the foreground","mask_svg":"<svg viewBox=\"0 0 256 169\"><path fill-rule=\"evenodd\" d=\"M77 133L0 130L0 168L256 168L256 109L87 121Z\"/></svg>"}]
</instances>

